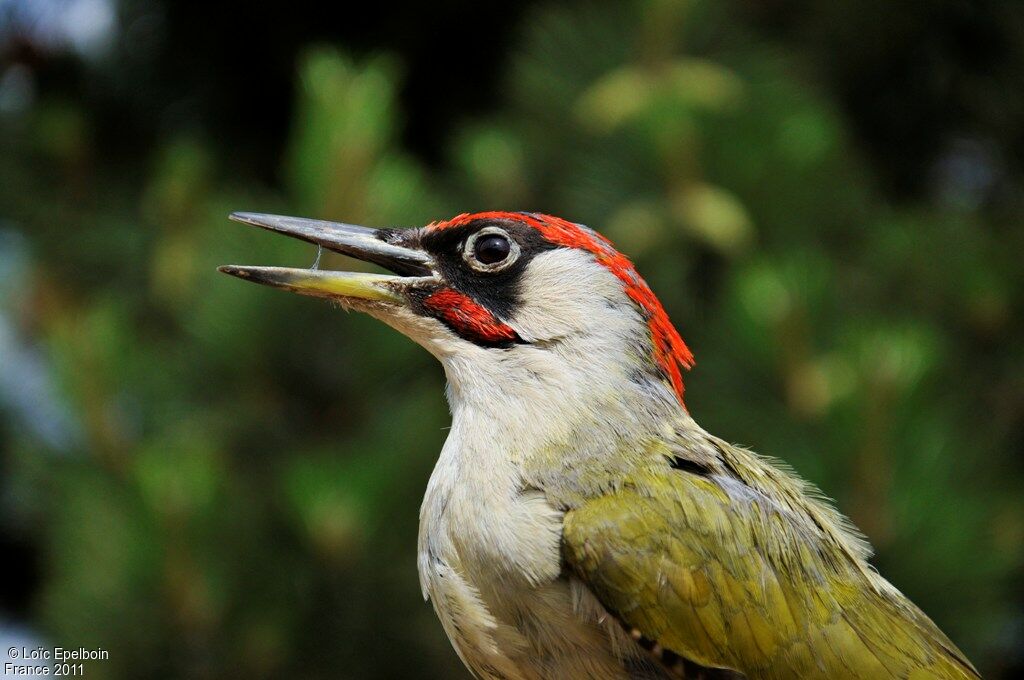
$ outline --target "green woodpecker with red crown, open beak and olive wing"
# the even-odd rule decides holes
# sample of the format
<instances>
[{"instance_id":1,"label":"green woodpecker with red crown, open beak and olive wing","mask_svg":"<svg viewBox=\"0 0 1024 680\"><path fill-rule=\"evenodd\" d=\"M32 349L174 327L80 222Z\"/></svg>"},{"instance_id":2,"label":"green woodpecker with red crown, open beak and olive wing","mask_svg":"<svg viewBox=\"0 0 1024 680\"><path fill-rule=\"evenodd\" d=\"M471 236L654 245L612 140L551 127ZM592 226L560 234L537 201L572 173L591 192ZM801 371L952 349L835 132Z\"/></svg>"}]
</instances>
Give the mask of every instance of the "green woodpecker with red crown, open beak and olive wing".
<instances>
[{"instance_id":1,"label":"green woodpecker with red crown, open beak and olive wing","mask_svg":"<svg viewBox=\"0 0 1024 680\"><path fill-rule=\"evenodd\" d=\"M694 422L689 349L596 231L231 217L392 274L222 271L365 311L443 365L418 566L477 677L979 677L815 488Z\"/></svg>"}]
</instances>

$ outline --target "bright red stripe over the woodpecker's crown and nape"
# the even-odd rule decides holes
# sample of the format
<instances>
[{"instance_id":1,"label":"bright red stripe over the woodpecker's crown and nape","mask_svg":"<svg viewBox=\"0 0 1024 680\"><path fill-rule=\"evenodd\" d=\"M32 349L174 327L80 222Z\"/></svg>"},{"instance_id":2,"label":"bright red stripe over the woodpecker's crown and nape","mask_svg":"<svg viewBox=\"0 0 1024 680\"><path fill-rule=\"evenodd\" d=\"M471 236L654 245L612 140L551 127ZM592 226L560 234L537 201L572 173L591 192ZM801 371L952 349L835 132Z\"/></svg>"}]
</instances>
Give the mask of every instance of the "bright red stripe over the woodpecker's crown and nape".
<instances>
[{"instance_id":1,"label":"bright red stripe over the woodpecker's crown and nape","mask_svg":"<svg viewBox=\"0 0 1024 680\"><path fill-rule=\"evenodd\" d=\"M623 282L626 294L643 310L647 325L650 327L651 341L654 345L654 360L672 382L672 387L679 396L679 402L683 402L682 372L683 369L693 368L693 353L683 342L679 331L669 321L669 314L666 313L665 307L662 306L662 303L654 296L654 292L637 272L633 262L615 250L610 241L581 224L538 213L463 213L447 221L435 222L428 228L445 229L481 219L507 219L522 222L540 231L550 243L592 253L600 264L607 267Z\"/></svg>"}]
</instances>

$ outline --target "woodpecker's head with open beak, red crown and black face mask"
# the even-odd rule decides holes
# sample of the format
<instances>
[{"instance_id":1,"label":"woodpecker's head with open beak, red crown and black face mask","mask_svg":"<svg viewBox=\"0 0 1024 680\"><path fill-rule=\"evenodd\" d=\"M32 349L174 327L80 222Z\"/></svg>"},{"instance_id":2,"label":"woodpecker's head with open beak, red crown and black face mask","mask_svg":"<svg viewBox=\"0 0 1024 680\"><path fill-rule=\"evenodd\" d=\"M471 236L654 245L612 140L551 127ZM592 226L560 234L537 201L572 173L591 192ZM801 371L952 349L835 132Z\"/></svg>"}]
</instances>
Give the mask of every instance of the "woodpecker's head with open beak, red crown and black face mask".
<instances>
[{"instance_id":1,"label":"woodpecker's head with open beak, red crown and black face mask","mask_svg":"<svg viewBox=\"0 0 1024 680\"><path fill-rule=\"evenodd\" d=\"M390 270L220 267L385 322L441 360L456 396L482 390L492 402L496 394L543 401L625 389L682 407L692 354L630 260L591 228L522 212L412 229L252 213L231 219Z\"/></svg>"}]
</instances>

